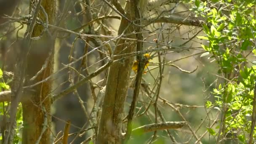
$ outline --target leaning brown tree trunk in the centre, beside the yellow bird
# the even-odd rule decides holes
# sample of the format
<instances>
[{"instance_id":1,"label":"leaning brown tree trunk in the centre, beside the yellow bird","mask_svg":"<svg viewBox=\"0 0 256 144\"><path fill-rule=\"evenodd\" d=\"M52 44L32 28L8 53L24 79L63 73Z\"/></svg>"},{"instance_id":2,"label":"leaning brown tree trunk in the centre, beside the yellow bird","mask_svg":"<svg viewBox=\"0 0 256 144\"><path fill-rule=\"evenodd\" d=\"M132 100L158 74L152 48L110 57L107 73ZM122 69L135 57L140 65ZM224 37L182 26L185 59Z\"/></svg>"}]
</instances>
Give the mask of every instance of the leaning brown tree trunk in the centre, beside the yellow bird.
<instances>
[{"instance_id":1,"label":"leaning brown tree trunk in the centre, beside the yellow bird","mask_svg":"<svg viewBox=\"0 0 256 144\"><path fill-rule=\"evenodd\" d=\"M116 0L113 0L112 3L121 11ZM131 21L135 20L135 6L137 5L134 5L132 1L126 1L125 13L123 14ZM131 21L122 17L118 35L130 34L134 31L136 27L131 24ZM128 38L136 38L136 35L129 35ZM135 51L136 41L117 40L115 45L117 46L114 55L132 53ZM121 57L115 57L114 60L116 59L121 59ZM133 57L115 62L109 69L96 144L122 143L123 108L132 64Z\"/></svg>"}]
</instances>

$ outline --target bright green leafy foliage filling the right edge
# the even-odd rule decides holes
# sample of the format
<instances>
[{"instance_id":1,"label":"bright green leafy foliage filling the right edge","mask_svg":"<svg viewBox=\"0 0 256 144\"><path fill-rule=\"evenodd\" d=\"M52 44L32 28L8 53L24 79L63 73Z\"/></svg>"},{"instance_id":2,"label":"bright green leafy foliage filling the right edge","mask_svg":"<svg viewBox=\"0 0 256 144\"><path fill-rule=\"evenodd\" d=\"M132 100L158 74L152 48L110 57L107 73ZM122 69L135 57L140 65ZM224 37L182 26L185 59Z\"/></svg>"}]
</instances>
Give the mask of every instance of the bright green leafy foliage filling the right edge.
<instances>
[{"instance_id":1,"label":"bright green leafy foliage filling the right edge","mask_svg":"<svg viewBox=\"0 0 256 144\"><path fill-rule=\"evenodd\" d=\"M207 128L210 135L227 134L246 143L251 131L252 101L256 80L256 62L249 59L256 54L256 17L255 0L190 0L191 11L196 17L204 20L202 24L205 35L197 38L207 40L202 48L208 51L203 56L211 56L219 65L219 77L222 77L218 88L213 89L214 103L206 101L207 108L218 107L224 119L225 133L217 133ZM219 123L220 124L220 123ZM223 132L223 131L222 131ZM253 133L254 138L256 132ZM230 137L229 137L230 138Z\"/></svg>"}]
</instances>

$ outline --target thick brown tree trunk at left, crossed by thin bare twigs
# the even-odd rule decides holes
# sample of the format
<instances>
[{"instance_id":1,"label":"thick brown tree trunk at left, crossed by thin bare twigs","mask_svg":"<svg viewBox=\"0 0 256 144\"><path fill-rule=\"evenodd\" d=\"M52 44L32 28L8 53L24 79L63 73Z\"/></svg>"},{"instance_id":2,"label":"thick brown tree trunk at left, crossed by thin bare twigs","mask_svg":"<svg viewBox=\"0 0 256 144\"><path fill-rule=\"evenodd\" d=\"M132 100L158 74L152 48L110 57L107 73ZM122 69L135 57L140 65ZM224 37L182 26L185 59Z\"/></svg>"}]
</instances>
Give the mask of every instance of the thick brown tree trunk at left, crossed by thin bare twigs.
<instances>
[{"instance_id":1,"label":"thick brown tree trunk at left, crossed by thin bare twigs","mask_svg":"<svg viewBox=\"0 0 256 144\"><path fill-rule=\"evenodd\" d=\"M56 0L43 0L41 5L48 15L49 24L53 24L56 18ZM30 2L30 8L32 2ZM40 19L45 21L45 14L40 9L38 14ZM35 25L32 37L40 36L43 32L43 26ZM32 47L28 57L27 75L29 78L34 76L43 66L45 60L49 57L47 67L37 76L35 82L44 80L53 73L53 55L50 51L54 49L54 38L43 36L40 40L32 42ZM54 50L53 50L54 51ZM48 80L33 88L35 93L31 94L31 99L22 102L23 123L22 144L50 144L51 128L51 86L52 81ZM46 129L45 129L46 128Z\"/></svg>"}]
</instances>

